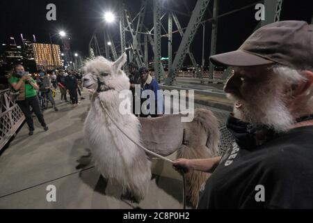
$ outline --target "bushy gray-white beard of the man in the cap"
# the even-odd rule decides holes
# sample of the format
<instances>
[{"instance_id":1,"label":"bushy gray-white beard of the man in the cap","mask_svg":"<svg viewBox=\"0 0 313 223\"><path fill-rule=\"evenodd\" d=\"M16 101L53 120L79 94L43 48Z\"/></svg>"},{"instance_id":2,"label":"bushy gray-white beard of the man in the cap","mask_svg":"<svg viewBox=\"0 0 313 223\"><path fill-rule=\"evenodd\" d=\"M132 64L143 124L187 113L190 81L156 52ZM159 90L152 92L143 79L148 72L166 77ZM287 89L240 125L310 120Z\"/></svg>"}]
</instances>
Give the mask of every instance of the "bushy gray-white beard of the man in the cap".
<instances>
[{"instance_id":1,"label":"bushy gray-white beard of the man in the cap","mask_svg":"<svg viewBox=\"0 0 313 223\"><path fill-rule=\"evenodd\" d=\"M232 94L227 94L227 98L241 102L242 107L240 109L234 107L234 116L251 123L254 127L266 125L268 128L273 128L275 132L287 132L294 123L294 119L289 109L284 105L281 95L255 97L252 104L240 100Z\"/></svg>"}]
</instances>

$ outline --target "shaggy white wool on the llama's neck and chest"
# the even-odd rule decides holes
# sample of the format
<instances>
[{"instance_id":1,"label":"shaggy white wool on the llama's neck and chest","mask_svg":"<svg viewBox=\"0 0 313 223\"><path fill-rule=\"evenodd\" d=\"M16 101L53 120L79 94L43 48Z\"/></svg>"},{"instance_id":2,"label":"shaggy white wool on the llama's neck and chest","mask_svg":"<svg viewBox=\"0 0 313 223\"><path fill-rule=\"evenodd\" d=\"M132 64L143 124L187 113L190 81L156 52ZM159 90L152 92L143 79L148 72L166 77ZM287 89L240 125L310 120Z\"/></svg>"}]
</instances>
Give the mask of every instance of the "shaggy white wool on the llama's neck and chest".
<instances>
[{"instance_id":1,"label":"shaggy white wool on the llama's neck and chest","mask_svg":"<svg viewBox=\"0 0 313 223\"><path fill-rule=\"evenodd\" d=\"M109 95L110 93L110 95ZM125 133L140 143L140 123L134 114L121 115L116 91L99 94L106 111L120 123ZM125 137L101 107L99 98L90 107L84 132L88 137L95 167L110 180L143 199L151 179L151 164L145 152ZM109 100L108 100L109 98ZM125 100L125 99L124 99Z\"/></svg>"}]
</instances>

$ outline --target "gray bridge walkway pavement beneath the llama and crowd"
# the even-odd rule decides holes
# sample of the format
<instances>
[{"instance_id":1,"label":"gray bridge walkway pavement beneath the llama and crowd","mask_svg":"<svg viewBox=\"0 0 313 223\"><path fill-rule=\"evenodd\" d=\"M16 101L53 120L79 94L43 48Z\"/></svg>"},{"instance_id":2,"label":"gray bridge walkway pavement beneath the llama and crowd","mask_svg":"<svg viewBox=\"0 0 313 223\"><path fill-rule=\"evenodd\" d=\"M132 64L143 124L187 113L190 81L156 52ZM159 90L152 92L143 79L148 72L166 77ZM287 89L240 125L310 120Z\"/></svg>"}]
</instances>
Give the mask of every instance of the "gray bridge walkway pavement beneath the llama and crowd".
<instances>
[{"instance_id":1,"label":"gray bridge walkway pavement beneath the llama and crowd","mask_svg":"<svg viewBox=\"0 0 313 223\"><path fill-rule=\"evenodd\" d=\"M102 178L84 144L90 100L88 93L83 96L77 107L56 100L59 111L44 113L47 132L34 118L33 136L24 125L0 155L0 208L182 208L181 177L161 160L153 162L149 193L141 203L120 199L121 188ZM48 185L56 187L56 202L47 201Z\"/></svg>"}]
</instances>

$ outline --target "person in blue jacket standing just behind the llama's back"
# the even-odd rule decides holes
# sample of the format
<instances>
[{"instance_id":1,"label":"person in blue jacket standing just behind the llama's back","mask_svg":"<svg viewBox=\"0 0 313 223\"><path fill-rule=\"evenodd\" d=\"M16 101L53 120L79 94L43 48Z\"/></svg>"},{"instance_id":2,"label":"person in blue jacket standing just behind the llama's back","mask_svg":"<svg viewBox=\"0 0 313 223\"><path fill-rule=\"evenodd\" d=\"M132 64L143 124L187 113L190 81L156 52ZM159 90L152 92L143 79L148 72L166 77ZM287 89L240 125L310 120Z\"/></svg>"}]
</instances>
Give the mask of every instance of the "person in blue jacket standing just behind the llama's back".
<instances>
[{"instance_id":1,"label":"person in blue jacket standing just behind the llama's back","mask_svg":"<svg viewBox=\"0 0 313 223\"><path fill-rule=\"evenodd\" d=\"M141 105L148 100L150 97L147 95L143 97L143 92L150 90L154 92L154 109L153 106L150 108L150 105L147 105L147 114L143 114L141 111L141 117L158 117L163 115L163 95L159 90L158 82L151 77L149 68L141 67L138 70L139 77L141 79Z\"/></svg>"}]
</instances>

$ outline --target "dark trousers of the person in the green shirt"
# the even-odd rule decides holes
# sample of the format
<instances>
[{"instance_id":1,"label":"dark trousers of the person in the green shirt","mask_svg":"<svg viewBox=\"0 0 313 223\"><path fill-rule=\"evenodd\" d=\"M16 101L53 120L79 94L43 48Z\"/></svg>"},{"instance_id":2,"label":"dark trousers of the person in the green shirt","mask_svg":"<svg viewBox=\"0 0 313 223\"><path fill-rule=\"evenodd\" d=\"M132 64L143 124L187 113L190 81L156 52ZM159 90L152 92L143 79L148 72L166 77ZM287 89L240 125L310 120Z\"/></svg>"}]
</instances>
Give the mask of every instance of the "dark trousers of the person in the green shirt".
<instances>
[{"instance_id":1,"label":"dark trousers of the person in the green shirt","mask_svg":"<svg viewBox=\"0 0 313 223\"><path fill-rule=\"evenodd\" d=\"M33 109L33 112L38 118L38 121L42 125L42 127L46 127L45 119L43 118L42 112L40 110L39 106L39 100L37 95L31 98L25 98L25 100L17 100L17 105L21 108L25 118L26 123L29 125L29 130L33 131L35 128L33 127L33 117L31 116L31 109Z\"/></svg>"}]
</instances>

